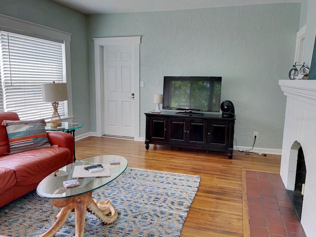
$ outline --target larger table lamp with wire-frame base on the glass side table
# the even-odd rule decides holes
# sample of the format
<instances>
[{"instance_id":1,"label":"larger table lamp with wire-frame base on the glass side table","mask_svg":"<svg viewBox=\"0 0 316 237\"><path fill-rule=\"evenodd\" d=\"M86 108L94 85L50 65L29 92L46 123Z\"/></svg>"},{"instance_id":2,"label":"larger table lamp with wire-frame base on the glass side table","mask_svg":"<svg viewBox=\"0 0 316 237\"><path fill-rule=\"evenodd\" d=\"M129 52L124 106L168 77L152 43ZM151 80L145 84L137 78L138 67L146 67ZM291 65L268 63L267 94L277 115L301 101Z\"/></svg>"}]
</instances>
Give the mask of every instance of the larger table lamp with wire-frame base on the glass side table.
<instances>
[{"instance_id":1,"label":"larger table lamp with wire-frame base on the glass side table","mask_svg":"<svg viewBox=\"0 0 316 237\"><path fill-rule=\"evenodd\" d=\"M53 83L41 84L41 93L43 101L52 102L54 109L50 119L50 126L53 128L61 126L61 118L58 114L58 101L68 100L67 83L55 83L53 81Z\"/></svg>"}]
</instances>

